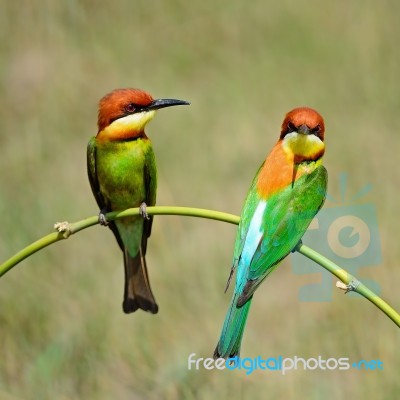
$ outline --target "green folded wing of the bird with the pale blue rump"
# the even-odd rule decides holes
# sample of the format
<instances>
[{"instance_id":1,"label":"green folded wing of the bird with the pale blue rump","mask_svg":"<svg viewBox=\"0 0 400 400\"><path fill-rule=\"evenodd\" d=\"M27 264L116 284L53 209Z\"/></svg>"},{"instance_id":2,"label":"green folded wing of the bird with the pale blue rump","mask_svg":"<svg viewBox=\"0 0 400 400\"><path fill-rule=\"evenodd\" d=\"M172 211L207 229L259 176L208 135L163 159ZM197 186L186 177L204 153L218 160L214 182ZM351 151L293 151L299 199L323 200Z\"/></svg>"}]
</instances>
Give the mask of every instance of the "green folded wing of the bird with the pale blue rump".
<instances>
[{"instance_id":1,"label":"green folded wing of the bird with the pale blue rump","mask_svg":"<svg viewBox=\"0 0 400 400\"><path fill-rule=\"evenodd\" d=\"M238 306L253 295L261 282L300 241L325 201L326 186L326 169L319 166L311 174L303 175L293 187L288 186L266 201L258 243L249 244L249 249L242 245L238 272L240 279L236 287L241 293ZM253 212L252 218L254 216ZM242 228L247 227L246 237L252 218ZM244 243L248 245L245 240ZM240 262L242 257L243 263Z\"/></svg>"}]
</instances>

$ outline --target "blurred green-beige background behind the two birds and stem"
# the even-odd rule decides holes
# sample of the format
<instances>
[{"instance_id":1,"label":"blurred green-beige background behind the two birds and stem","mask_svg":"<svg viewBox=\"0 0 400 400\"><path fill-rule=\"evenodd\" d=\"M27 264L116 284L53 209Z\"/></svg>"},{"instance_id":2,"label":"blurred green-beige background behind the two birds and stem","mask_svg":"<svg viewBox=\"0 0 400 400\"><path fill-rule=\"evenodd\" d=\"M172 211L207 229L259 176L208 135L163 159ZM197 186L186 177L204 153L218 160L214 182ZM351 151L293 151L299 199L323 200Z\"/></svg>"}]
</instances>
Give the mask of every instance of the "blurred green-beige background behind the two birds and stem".
<instances>
[{"instance_id":1,"label":"blurred green-beige background behind the two birds and stem","mask_svg":"<svg viewBox=\"0 0 400 400\"><path fill-rule=\"evenodd\" d=\"M349 194L373 186L362 201L376 206L383 259L359 278L399 309L399 15L389 0L3 1L0 261L56 221L97 214L86 144L108 91L191 101L147 128L158 204L235 214L284 114L308 105L325 117L330 194L340 198L342 172ZM212 355L219 337L235 230L155 218L157 316L122 313L122 255L108 229L25 260L0 280L0 398L396 398L396 326L335 289L332 302L300 302L320 269L296 275L289 261L255 296L242 356L380 359L384 370L188 371L188 355Z\"/></svg>"}]
</instances>

